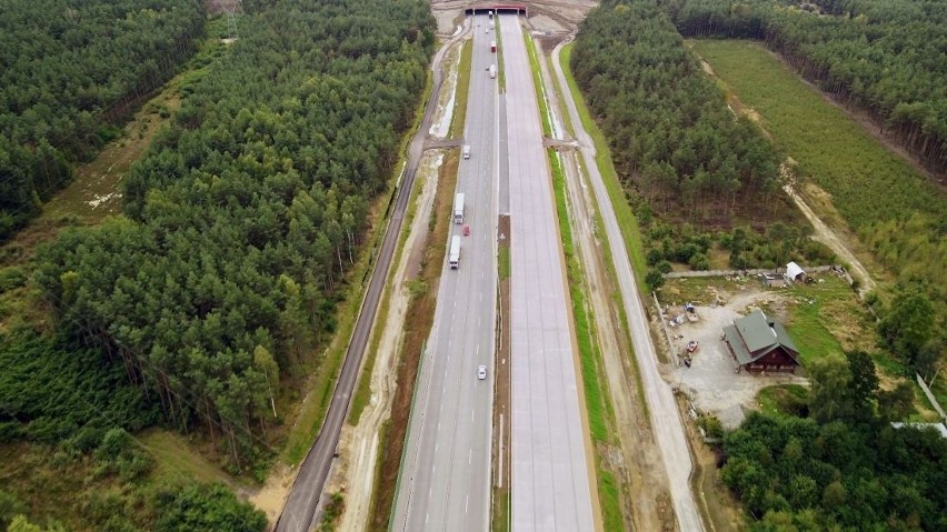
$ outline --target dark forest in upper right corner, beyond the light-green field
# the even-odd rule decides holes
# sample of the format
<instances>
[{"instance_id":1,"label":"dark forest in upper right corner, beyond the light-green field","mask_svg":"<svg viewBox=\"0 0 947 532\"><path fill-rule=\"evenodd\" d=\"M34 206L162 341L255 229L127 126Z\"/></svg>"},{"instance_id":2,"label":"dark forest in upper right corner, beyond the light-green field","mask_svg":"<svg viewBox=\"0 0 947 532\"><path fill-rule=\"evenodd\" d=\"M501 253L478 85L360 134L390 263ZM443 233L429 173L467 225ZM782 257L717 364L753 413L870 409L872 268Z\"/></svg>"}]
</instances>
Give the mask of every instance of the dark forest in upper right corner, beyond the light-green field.
<instances>
[{"instance_id":1,"label":"dark forest in upper right corner, beyond the light-green field","mask_svg":"<svg viewBox=\"0 0 947 532\"><path fill-rule=\"evenodd\" d=\"M757 39L837 101L864 109L947 174L947 6L938 0L660 0L685 36Z\"/></svg>"}]
</instances>

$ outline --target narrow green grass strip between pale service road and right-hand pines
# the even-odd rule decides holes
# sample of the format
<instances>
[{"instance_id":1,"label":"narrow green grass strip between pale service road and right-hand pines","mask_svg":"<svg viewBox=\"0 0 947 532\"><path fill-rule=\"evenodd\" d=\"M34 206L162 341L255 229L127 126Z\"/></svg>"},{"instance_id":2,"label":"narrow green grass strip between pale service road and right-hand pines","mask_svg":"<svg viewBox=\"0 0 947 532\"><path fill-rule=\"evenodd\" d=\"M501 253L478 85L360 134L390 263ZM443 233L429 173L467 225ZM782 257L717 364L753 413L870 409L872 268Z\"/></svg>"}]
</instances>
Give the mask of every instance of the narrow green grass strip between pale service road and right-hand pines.
<instances>
[{"instance_id":1,"label":"narrow green grass strip between pale service road and right-hand pines","mask_svg":"<svg viewBox=\"0 0 947 532\"><path fill-rule=\"evenodd\" d=\"M618 181L618 174L615 171L615 165L611 163L611 150L608 149L608 141L596 126L588 107L586 107L582 92L579 90L576 79L569 69L569 58L572 54L572 46L568 44L562 48L562 53L559 57L562 71L566 74L566 81L569 84L569 91L576 100L576 108L579 111L582 127L591 135L596 147L596 164L598 165L601 178L605 181L605 188L608 190L608 198L611 201L615 215L618 219L618 227L621 229L621 235L625 238L625 247L628 249L629 259L631 260L631 269L635 271L635 281L638 283L638 289L642 293L647 293L648 287L645 285L645 273L648 271L648 264L645 261L644 243L641 241L641 232L638 229L638 219L631 211L631 205L625 195L625 190L621 189L621 183ZM599 199L601 201L601 199Z\"/></svg>"}]
</instances>

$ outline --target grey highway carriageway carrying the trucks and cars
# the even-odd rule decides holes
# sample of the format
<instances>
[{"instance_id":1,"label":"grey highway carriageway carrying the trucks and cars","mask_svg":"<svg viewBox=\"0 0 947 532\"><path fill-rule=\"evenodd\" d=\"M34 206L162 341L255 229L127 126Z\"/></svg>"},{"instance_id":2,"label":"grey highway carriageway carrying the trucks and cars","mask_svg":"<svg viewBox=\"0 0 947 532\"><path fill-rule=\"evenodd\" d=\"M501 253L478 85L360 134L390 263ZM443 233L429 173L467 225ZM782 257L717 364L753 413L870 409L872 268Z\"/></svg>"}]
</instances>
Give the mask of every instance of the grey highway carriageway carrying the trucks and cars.
<instances>
[{"instance_id":1,"label":"grey highway carriageway carrying the trucks and cars","mask_svg":"<svg viewBox=\"0 0 947 532\"><path fill-rule=\"evenodd\" d=\"M412 404L392 530L486 531L490 525L490 436L496 325L497 80L487 69L492 31L474 19L474 53L457 192L466 195L469 237L460 268L447 261L435 323ZM450 237L461 234L452 224ZM486 380L477 367L488 368Z\"/></svg>"}]
</instances>

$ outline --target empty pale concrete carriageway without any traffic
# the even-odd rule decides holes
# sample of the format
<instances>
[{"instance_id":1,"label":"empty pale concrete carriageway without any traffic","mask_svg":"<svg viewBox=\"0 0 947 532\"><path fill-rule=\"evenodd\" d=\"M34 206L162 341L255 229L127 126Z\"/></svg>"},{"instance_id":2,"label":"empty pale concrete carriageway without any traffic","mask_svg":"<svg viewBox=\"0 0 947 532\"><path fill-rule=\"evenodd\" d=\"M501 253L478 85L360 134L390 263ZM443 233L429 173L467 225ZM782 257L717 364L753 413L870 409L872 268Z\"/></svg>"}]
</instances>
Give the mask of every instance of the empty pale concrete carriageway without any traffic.
<instances>
[{"instance_id":1,"label":"empty pale concrete carriageway without any traffic","mask_svg":"<svg viewBox=\"0 0 947 532\"><path fill-rule=\"evenodd\" d=\"M519 19L500 16L512 245L512 530L591 531L564 257Z\"/></svg>"}]
</instances>

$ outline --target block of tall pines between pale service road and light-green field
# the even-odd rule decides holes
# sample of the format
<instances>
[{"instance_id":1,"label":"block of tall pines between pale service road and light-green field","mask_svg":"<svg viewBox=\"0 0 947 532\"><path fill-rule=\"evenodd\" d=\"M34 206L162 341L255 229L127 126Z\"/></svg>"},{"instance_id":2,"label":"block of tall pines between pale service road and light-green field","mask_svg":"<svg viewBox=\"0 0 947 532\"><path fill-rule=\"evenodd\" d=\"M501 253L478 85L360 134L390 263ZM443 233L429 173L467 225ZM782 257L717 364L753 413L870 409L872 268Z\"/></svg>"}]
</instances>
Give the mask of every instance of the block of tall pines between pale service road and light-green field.
<instances>
[{"instance_id":1,"label":"block of tall pines between pale service road and light-green field","mask_svg":"<svg viewBox=\"0 0 947 532\"><path fill-rule=\"evenodd\" d=\"M748 119L734 117L652 4L606 2L590 11L571 69L616 169L656 213L727 221L778 191L775 149Z\"/></svg>"}]
</instances>

